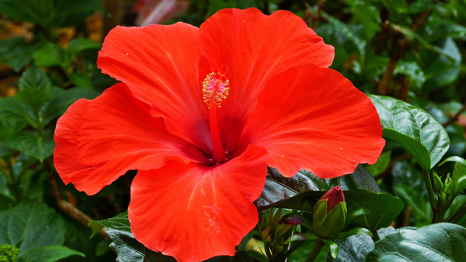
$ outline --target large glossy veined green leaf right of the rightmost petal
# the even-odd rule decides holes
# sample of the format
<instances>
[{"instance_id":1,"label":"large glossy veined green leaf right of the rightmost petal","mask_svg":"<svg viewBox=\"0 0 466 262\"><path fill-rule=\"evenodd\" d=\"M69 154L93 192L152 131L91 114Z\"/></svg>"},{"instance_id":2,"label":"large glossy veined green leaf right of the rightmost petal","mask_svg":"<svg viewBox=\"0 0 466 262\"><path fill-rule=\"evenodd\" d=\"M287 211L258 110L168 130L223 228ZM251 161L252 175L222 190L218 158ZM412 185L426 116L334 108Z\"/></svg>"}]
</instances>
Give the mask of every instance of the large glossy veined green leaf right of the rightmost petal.
<instances>
[{"instance_id":1,"label":"large glossy veined green leaf right of the rightmost petal","mask_svg":"<svg viewBox=\"0 0 466 262\"><path fill-rule=\"evenodd\" d=\"M393 97L368 97L377 108L384 136L400 143L426 171L445 155L450 139L437 119Z\"/></svg>"}]
</instances>

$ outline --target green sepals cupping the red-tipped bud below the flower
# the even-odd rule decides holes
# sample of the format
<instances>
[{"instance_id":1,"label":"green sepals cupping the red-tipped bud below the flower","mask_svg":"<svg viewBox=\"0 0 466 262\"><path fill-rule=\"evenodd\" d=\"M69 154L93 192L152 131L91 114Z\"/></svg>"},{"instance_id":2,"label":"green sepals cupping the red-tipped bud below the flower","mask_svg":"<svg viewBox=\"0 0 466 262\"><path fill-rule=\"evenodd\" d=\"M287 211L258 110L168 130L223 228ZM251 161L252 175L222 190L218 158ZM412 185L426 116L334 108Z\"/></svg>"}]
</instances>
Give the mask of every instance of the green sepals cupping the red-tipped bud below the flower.
<instances>
[{"instance_id":1,"label":"green sepals cupping the red-tipped bud below the flower","mask_svg":"<svg viewBox=\"0 0 466 262\"><path fill-rule=\"evenodd\" d=\"M325 206L327 206L327 203L325 203ZM322 207L319 207L317 211L322 212L321 209ZM330 210L322 222L317 224L318 227L314 223L315 233L323 237L336 238L345 226L346 214L346 202L340 202L340 204ZM319 219L316 221L319 221Z\"/></svg>"}]
</instances>

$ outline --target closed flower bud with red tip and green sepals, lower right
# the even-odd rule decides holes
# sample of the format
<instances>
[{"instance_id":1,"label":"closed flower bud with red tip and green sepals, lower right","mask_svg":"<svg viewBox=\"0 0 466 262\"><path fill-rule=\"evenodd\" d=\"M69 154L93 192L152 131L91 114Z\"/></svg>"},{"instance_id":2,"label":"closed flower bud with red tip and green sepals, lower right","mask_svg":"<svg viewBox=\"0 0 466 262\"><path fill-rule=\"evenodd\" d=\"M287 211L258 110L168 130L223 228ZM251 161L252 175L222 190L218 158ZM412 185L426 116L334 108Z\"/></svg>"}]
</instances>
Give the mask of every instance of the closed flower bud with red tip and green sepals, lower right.
<instances>
[{"instance_id":1,"label":"closed flower bud with red tip and green sepals, lower right","mask_svg":"<svg viewBox=\"0 0 466 262\"><path fill-rule=\"evenodd\" d=\"M336 238L345 225L347 209L343 191L335 186L314 206L312 224L316 234Z\"/></svg>"}]
</instances>

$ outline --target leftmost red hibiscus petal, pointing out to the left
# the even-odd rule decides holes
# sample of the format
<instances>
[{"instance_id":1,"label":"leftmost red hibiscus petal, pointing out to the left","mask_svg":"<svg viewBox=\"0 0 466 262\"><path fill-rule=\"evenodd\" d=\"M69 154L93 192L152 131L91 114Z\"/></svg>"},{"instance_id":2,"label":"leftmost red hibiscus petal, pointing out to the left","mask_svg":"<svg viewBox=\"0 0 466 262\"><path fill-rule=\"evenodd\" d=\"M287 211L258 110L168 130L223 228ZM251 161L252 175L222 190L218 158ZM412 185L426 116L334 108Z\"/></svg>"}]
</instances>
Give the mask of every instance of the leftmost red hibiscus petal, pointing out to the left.
<instances>
[{"instance_id":1,"label":"leftmost red hibiscus petal, pointing out to the left","mask_svg":"<svg viewBox=\"0 0 466 262\"><path fill-rule=\"evenodd\" d=\"M89 195L130 169L158 168L171 159L206 161L198 148L168 132L161 117L152 117L124 83L73 103L58 120L54 139L60 177Z\"/></svg>"}]
</instances>

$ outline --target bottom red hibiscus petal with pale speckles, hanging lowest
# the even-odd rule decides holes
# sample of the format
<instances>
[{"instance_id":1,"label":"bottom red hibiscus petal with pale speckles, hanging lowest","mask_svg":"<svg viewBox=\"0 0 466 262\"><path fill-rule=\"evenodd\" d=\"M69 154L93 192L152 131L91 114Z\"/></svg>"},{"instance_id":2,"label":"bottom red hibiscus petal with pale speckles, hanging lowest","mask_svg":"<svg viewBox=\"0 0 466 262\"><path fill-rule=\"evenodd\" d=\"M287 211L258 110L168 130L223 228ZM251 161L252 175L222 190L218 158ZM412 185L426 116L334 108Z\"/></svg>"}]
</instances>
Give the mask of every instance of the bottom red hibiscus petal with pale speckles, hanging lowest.
<instances>
[{"instance_id":1,"label":"bottom red hibiscus petal with pale speckles, hanging lowest","mask_svg":"<svg viewBox=\"0 0 466 262\"><path fill-rule=\"evenodd\" d=\"M258 221L253 202L264 187L266 155L251 145L221 165L170 161L138 171L131 184L131 232L147 248L178 262L234 255Z\"/></svg>"}]
</instances>

